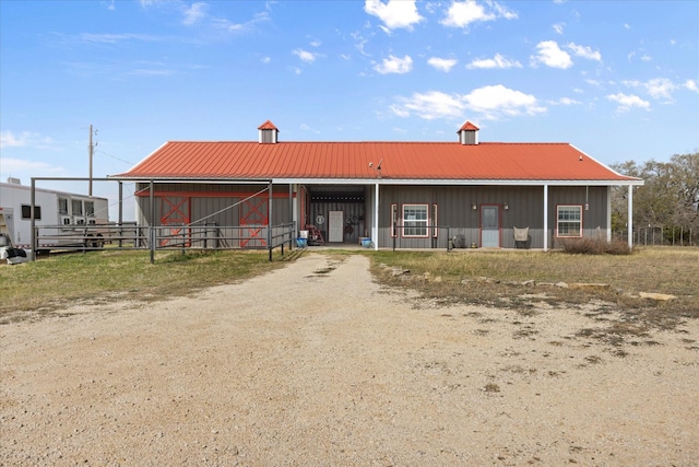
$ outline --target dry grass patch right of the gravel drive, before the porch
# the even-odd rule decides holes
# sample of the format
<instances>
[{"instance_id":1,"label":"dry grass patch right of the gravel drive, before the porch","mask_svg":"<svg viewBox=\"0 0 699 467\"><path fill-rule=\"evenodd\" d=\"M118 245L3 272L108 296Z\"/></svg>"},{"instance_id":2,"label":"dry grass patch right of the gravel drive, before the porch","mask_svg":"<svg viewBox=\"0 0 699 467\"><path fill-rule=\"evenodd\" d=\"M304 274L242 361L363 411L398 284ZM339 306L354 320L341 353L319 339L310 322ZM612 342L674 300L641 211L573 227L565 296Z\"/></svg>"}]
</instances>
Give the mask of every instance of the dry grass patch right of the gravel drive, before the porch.
<instances>
[{"instance_id":1,"label":"dry grass patch right of the gravel drive, before the porch","mask_svg":"<svg viewBox=\"0 0 699 467\"><path fill-rule=\"evenodd\" d=\"M699 317L699 248L653 247L632 255L561 252L378 252L374 272L445 304L472 303L526 312L537 303L621 312L621 322L596 338L638 335L642 327L674 328ZM388 267L386 267L388 266ZM393 268L410 270L395 275ZM607 287L571 289L559 283ZM640 299L639 292L675 295Z\"/></svg>"}]
</instances>

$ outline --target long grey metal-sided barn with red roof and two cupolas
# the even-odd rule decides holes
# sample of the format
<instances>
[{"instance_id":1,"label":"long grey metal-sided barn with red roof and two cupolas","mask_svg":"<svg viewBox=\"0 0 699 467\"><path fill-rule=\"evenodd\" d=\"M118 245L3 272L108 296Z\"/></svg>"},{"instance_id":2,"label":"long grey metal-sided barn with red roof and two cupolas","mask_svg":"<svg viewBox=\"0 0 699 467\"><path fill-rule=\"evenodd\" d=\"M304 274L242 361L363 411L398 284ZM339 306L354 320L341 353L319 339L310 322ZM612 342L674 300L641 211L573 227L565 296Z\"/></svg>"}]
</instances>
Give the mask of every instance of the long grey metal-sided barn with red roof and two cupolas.
<instances>
[{"instance_id":1,"label":"long grey metal-sided barn with red roof and two cupolas","mask_svg":"<svg viewBox=\"0 0 699 467\"><path fill-rule=\"evenodd\" d=\"M569 143L482 142L478 131L466 121L452 142L287 142L268 120L257 141L168 141L110 178L137 182L139 224L232 226L242 248L265 246L261 232L283 223L376 248L611 240L618 186L628 187L631 238L642 179Z\"/></svg>"}]
</instances>

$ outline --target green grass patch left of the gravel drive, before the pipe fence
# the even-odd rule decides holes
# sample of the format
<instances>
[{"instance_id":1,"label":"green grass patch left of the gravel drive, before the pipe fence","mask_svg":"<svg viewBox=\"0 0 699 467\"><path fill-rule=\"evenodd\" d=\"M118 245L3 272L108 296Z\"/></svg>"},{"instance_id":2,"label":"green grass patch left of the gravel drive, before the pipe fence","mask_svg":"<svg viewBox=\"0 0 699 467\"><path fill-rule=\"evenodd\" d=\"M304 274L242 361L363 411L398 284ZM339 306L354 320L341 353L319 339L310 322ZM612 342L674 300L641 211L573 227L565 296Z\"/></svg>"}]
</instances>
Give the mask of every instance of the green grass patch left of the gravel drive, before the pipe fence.
<instances>
[{"instance_id":1,"label":"green grass patch left of the gravel drive, before the pipe fence","mask_svg":"<svg viewBox=\"0 0 699 467\"><path fill-rule=\"evenodd\" d=\"M147 252L91 252L54 255L21 266L1 266L0 317L51 311L76 302L147 301L180 296L233 283L282 267L268 252L206 252L159 255Z\"/></svg>"}]
</instances>

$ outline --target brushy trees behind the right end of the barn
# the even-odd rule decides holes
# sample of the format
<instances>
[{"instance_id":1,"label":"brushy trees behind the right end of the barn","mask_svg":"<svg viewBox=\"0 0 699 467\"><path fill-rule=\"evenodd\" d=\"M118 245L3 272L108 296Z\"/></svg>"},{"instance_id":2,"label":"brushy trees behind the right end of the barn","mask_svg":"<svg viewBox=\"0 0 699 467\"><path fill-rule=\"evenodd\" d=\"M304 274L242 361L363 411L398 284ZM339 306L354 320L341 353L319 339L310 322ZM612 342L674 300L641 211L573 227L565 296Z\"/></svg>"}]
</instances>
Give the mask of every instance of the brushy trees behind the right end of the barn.
<instances>
[{"instance_id":1,"label":"brushy trees behind the right end of the barn","mask_svg":"<svg viewBox=\"0 0 699 467\"><path fill-rule=\"evenodd\" d=\"M662 232L664 243L699 238L699 151L675 154L670 162L627 161L613 164L620 174L642 178L633 188L633 227ZM628 187L612 191L612 231L624 235L628 225ZM697 242L695 241L696 245Z\"/></svg>"}]
</instances>

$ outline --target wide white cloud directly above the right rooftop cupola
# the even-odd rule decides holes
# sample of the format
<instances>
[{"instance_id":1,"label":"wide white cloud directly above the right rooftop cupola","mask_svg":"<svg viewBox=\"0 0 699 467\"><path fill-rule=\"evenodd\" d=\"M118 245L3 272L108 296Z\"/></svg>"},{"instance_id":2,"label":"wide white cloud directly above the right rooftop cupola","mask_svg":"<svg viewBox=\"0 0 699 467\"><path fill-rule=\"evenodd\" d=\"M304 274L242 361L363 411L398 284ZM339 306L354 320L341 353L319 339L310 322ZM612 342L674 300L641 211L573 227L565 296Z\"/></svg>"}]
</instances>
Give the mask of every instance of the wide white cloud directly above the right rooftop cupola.
<instances>
[{"instance_id":1,"label":"wide white cloud directly above the right rooftop cupola","mask_svg":"<svg viewBox=\"0 0 699 467\"><path fill-rule=\"evenodd\" d=\"M463 118L466 112L481 114L496 120L518 115L536 115L546 112L533 95L510 90L501 84L473 90L470 94L447 94L439 91L414 93L399 97L391 106L399 117L416 115L426 120L436 118Z\"/></svg>"}]
</instances>

